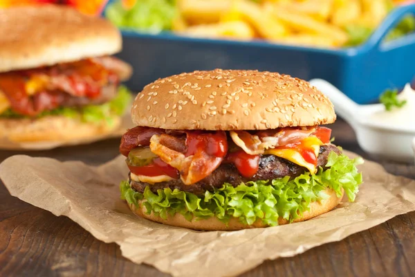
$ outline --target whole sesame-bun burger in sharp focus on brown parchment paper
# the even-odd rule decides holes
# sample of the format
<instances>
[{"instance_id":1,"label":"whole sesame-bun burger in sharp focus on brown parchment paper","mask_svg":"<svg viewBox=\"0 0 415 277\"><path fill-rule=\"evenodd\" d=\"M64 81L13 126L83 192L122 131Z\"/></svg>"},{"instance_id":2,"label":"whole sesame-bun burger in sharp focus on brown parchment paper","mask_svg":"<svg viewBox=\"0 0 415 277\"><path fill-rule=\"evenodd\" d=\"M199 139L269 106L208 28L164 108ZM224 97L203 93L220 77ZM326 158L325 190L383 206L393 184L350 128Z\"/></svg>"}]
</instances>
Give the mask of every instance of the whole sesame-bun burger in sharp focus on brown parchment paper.
<instances>
[{"instance_id":1,"label":"whole sesame-bun burger in sharp focus on brown parchment paper","mask_svg":"<svg viewBox=\"0 0 415 277\"><path fill-rule=\"evenodd\" d=\"M122 199L140 217L196 230L300 222L353 201L356 165L331 143L335 112L279 73L194 71L148 84L122 136Z\"/></svg>"}]
</instances>

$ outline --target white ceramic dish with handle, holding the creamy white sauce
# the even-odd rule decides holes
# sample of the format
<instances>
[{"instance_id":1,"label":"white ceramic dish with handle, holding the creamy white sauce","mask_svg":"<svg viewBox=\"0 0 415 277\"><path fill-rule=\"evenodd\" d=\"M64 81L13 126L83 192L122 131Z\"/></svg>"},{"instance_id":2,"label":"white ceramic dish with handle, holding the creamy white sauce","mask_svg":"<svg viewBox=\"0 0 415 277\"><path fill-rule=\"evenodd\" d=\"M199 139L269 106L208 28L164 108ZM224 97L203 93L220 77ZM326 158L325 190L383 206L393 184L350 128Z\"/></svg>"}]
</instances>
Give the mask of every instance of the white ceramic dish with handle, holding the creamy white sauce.
<instances>
[{"instance_id":1,"label":"white ceramic dish with handle, holding the creamy white sauce","mask_svg":"<svg viewBox=\"0 0 415 277\"><path fill-rule=\"evenodd\" d=\"M360 147L369 154L393 161L414 162L415 124L407 127L387 125L369 120L369 116L383 111L382 104L358 105L329 82L310 81L333 102L336 113L353 127ZM412 149L414 147L414 149Z\"/></svg>"}]
</instances>

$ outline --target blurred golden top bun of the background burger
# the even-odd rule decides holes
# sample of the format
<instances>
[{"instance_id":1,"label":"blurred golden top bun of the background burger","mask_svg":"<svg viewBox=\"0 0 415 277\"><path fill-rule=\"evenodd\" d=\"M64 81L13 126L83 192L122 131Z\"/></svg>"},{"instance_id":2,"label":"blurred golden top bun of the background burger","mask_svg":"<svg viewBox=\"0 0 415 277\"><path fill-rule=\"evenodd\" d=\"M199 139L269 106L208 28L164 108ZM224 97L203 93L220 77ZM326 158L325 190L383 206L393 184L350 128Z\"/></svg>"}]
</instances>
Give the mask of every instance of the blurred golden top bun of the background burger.
<instances>
[{"instance_id":1,"label":"blurred golden top bun of the background burger","mask_svg":"<svg viewBox=\"0 0 415 277\"><path fill-rule=\"evenodd\" d=\"M57 5L0 9L0 72L31 69L121 50L109 21Z\"/></svg>"}]
</instances>

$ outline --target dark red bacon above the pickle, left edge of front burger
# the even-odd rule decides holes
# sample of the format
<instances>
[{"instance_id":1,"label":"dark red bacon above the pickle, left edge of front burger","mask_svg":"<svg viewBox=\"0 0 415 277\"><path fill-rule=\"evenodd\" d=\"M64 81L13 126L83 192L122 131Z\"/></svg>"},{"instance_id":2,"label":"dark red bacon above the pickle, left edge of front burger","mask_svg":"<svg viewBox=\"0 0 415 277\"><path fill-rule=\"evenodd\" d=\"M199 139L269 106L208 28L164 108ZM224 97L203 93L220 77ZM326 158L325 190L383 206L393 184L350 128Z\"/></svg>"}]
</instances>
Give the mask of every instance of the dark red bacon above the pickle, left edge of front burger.
<instances>
[{"instance_id":1,"label":"dark red bacon above the pickle, left edge of front burger","mask_svg":"<svg viewBox=\"0 0 415 277\"><path fill-rule=\"evenodd\" d=\"M129 152L133 150L133 148L136 148L138 146L150 145L151 136L154 136L155 134L164 133L164 129L141 126L133 127L132 129L127 130L127 132L122 135L120 153L127 157Z\"/></svg>"}]
</instances>

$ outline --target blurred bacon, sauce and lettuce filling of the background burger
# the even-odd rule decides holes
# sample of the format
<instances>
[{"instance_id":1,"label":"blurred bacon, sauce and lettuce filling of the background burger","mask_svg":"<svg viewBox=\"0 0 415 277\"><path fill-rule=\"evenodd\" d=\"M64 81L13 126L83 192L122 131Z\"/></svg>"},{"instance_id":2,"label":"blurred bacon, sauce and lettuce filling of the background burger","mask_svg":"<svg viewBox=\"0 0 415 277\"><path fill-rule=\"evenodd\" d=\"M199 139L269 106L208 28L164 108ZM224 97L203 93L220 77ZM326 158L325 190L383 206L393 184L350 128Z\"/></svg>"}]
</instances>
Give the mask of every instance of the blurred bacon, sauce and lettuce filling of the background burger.
<instances>
[{"instance_id":1,"label":"blurred bacon, sauce and lettuce filling of the background burger","mask_svg":"<svg viewBox=\"0 0 415 277\"><path fill-rule=\"evenodd\" d=\"M130 66L115 57L0 73L0 117L81 114L91 121L119 114L129 94L124 88L119 93L118 84L130 74Z\"/></svg>"}]
</instances>

